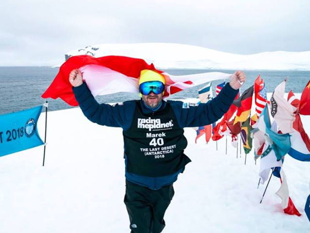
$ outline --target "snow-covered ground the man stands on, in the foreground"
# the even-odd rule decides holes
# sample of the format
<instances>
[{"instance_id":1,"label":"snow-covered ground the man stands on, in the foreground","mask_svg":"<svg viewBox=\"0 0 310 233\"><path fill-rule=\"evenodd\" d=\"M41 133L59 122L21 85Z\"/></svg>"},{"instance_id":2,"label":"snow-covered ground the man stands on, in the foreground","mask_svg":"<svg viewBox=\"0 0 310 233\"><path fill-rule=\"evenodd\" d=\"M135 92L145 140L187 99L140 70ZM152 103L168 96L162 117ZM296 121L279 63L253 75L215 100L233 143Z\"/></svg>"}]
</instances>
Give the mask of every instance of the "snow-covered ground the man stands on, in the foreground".
<instances>
[{"instance_id":1,"label":"snow-covered ground the man stands on, in the foreground","mask_svg":"<svg viewBox=\"0 0 310 233\"><path fill-rule=\"evenodd\" d=\"M310 116L302 116L310 132ZM38 122L44 138L45 114ZM192 163L174 184L163 233L308 233L304 206L310 164L286 156L290 196L302 216L289 216L275 194L280 181L258 184L259 161L236 158L225 139L209 145L186 129ZM87 120L79 108L48 113L47 150L43 147L0 157L1 233L129 233L124 200L122 130Z\"/></svg>"}]
</instances>

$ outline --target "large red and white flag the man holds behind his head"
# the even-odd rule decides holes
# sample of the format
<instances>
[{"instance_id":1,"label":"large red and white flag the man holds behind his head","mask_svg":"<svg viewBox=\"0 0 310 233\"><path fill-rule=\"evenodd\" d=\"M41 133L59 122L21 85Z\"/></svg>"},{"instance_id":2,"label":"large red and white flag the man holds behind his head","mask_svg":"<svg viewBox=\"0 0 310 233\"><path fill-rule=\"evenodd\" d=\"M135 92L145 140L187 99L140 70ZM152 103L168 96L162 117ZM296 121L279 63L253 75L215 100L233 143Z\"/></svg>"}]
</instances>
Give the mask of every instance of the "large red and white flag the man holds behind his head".
<instances>
[{"instance_id":1,"label":"large red and white flag the man holds behind his head","mask_svg":"<svg viewBox=\"0 0 310 233\"><path fill-rule=\"evenodd\" d=\"M108 95L117 92L139 93L139 77L143 69L161 73L166 80L164 98L188 87L213 80L230 78L231 74L208 72L192 75L174 76L148 65L144 60L124 56L105 56L94 58L88 55L70 57L60 67L54 81L42 95L43 98L61 98L71 106L78 106L69 83L70 72L78 68L83 74L93 96Z\"/></svg>"}]
</instances>

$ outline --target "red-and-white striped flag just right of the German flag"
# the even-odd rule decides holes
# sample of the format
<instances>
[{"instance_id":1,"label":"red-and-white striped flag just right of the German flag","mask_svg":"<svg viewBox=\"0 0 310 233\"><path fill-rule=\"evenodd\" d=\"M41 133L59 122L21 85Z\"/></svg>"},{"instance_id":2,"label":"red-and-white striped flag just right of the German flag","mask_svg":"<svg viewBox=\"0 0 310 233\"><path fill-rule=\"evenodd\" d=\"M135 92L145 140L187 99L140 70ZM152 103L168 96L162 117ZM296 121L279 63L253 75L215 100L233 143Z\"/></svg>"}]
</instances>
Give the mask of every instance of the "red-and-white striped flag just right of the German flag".
<instances>
[{"instance_id":1,"label":"red-and-white striped flag just right of the German flag","mask_svg":"<svg viewBox=\"0 0 310 233\"><path fill-rule=\"evenodd\" d=\"M259 118L263 111L263 108L266 106L267 103L267 92L265 88L265 83L263 82L263 79L261 79L260 74L255 80L254 91L255 91L256 113L257 118Z\"/></svg>"}]
</instances>

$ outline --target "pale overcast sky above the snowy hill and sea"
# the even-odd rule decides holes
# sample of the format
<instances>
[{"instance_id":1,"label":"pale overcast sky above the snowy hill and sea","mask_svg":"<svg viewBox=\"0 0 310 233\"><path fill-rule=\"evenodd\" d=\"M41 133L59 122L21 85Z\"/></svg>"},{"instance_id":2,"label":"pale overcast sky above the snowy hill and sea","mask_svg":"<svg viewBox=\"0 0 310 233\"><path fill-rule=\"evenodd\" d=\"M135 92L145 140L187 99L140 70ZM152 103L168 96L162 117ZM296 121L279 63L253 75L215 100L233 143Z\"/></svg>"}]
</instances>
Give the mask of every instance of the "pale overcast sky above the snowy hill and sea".
<instances>
[{"instance_id":1,"label":"pale overcast sky above the snowy hill and sea","mask_svg":"<svg viewBox=\"0 0 310 233\"><path fill-rule=\"evenodd\" d=\"M102 43L238 54L310 50L310 0L0 0L0 66L53 66Z\"/></svg>"}]
</instances>

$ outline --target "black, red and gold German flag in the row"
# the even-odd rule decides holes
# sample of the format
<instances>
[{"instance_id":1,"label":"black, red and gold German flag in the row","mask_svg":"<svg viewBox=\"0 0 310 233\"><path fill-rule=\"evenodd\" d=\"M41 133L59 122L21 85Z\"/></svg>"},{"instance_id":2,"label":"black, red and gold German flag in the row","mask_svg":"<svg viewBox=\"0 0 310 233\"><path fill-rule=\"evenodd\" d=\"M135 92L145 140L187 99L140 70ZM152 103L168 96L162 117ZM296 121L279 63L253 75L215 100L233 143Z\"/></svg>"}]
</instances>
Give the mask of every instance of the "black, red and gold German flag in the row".
<instances>
[{"instance_id":1,"label":"black, red and gold German flag in the row","mask_svg":"<svg viewBox=\"0 0 310 233\"><path fill-rule=\"evenodd\" d=\"M235 116L233 124L237 122L245 122L251 112L252 96L254 91L254 85L251 85L239 99L234 100L233 104L238 107L237 115Z\"/></svg>"}]
</instances>

